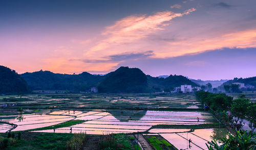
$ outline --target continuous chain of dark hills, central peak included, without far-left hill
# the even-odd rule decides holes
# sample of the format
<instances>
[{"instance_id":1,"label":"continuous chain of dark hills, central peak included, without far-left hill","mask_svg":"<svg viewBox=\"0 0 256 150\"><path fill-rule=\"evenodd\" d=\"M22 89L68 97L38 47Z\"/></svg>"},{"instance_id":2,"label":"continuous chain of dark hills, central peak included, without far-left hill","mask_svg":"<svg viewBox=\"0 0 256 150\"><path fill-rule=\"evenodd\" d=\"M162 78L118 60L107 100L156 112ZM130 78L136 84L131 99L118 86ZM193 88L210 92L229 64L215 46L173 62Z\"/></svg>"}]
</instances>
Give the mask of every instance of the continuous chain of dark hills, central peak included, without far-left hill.
<instances>
[{"instance_id":1,"label":"continuous chain of dark hills, central peak included, without far-left hill","mask_svg":"<svg viewBox=\"0 0 256 150\"><path fill-rule=\"evenodd\" d=\"M9 69L10 70L10 69ZM11 70L10 70L11 71ZM15 72L15 71L12 71ZM198 84L181 75L170 75L166 78L145 75L138 68L120 67L106 75L92 75L88 72L81 74L59 74L50 71L37 71L18 75L23 85L31 90L68 90L73 92L88 91L98 87L99 92L108 93L146 93L160 92L164 89L179 87L181 84ZM28 88L29 87L29 88ZM0 87L3 89L3 86ZM28 90L26 90L28 91Z\"/></svg>"}]
</instances>

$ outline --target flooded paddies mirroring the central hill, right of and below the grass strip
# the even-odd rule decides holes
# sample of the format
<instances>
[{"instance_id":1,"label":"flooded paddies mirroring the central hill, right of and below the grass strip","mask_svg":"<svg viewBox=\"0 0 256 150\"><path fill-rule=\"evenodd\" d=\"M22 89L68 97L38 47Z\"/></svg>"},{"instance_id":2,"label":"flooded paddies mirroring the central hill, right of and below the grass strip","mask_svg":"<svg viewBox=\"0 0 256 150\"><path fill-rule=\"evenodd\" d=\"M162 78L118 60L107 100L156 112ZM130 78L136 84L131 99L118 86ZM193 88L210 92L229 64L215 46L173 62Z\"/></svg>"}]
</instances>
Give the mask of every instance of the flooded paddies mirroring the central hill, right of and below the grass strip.
<instances>
[{"instance_id":1,"label":"flooded paddies mirroring the central hill, right of and below the grass strip","mask_svg":"<svg viewBox=\"0 0 256 150\"><path fill-rule=\"evenodd\" d=\"M52 113L63 114L56 112ZM67 111L64 114L67 114ZM94 110L88 112L76 112L75 114L77 116L76 119L88 121L72 125L72 132L83 131L88 134L143 132L151 128L152 125L158 124L202 124L216 121L209 113L199 111L108 110L108 112L105 112ZM200 121L198 121L197 117ZM53 130L44 132L53 132ZM69 133L70 127L58 128L55 132Z\"/></svg>"}]
</instances>

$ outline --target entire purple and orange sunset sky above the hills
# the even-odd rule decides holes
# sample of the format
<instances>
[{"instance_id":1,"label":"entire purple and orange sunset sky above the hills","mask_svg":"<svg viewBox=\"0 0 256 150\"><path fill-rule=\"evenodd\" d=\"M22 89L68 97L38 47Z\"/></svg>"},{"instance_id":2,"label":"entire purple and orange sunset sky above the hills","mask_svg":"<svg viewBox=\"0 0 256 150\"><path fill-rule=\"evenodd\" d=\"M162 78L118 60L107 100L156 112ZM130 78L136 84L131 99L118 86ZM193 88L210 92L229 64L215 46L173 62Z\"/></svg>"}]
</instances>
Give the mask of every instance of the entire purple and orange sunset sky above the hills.
<instances>
[{"instance_id":1,"label":"entire purple and orange sunset sky above the hills","mask_svg":"<svg viewBox=\"0 0 256 150\"><path fill-rule=\"evenodd\" d=\"M0 1L0 65L17 73L256 76L256 1Z\"/></svg>"}]
</instances>

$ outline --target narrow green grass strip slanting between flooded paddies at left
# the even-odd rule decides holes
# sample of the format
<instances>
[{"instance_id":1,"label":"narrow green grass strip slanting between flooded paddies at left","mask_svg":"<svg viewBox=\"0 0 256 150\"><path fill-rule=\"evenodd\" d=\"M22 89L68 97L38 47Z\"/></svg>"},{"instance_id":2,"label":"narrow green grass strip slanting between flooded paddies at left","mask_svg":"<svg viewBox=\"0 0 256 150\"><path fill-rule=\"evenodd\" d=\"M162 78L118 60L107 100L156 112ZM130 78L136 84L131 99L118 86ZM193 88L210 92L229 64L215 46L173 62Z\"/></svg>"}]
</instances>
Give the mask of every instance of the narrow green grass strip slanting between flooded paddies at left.
<instances>
[{"instance_id":1,"label":"narrow green grass strip slanting between flooded paddies at left","mask_svg":"<svg viewBox=\"0 0 256 150\"><path fill-rule=\"evenodd\" d=\"M63 123L56 124L56 125L34 128L34 129L31 129L31 130L27 130L27 131L51 130L54 127L55 128L67 127L67 126L71 126L71 125L75 125L75 124L80 124L80 123L83 123L83 122L86 122L86 120L70 120L70 121L66 121L66 122L63 122Z\"/></svg>"}]
</instances>

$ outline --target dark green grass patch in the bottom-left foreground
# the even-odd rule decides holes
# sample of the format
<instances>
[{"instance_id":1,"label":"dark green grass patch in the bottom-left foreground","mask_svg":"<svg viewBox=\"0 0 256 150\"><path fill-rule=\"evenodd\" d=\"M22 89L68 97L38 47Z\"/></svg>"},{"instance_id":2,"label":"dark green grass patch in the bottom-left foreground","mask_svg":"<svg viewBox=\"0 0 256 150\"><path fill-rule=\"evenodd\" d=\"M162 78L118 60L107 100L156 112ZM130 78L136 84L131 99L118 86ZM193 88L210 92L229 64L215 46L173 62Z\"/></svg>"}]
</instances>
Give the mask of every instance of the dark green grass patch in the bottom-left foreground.
<instances>
[{"instance_id":1,"label":"dark green grass patch in the bottom-left foreground","mask_svg":"<svg viewBox=\"0 0 256 150\"><path fill-rule=\"evenodd\" d=\"M73 137L73 134L42 133L34 137L34 140L18 140L6 150L11 149L66 149L66 143Z\"/></svg>"}]
</instances>

